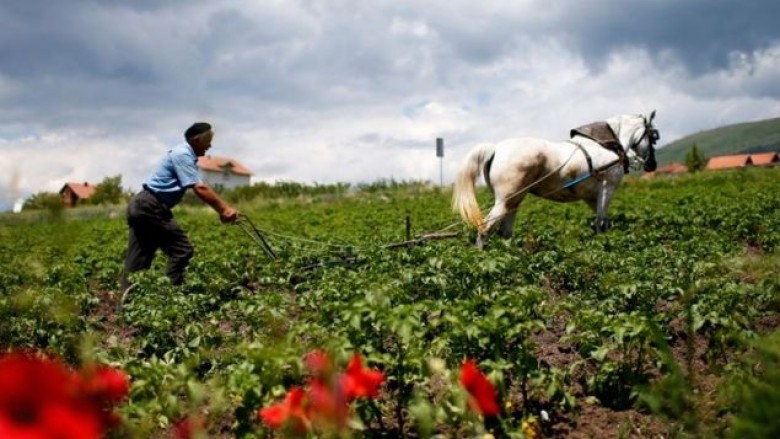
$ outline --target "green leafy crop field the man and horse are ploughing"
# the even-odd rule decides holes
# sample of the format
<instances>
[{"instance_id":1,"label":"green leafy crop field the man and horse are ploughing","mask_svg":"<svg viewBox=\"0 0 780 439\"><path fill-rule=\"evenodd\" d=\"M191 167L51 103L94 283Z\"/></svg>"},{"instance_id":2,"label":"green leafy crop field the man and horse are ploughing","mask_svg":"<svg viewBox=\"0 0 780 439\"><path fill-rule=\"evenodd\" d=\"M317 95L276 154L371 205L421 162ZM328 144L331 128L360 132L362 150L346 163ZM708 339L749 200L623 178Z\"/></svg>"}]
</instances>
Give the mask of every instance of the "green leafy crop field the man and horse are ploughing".
<instances>
[{"instance_id":1,"label":"green leafy crop field the man and horse are ploughing","mask_svg":"<svg viewBox=\"0 0 780 439\"><path fill-rule=\"evenodd\" d=\"M123 370L118 438L182 422L208 438L780 437L779 188L780 168L633 178L598 235L584 204L529 197L514 237L484 251L448 188L240 202L276 260L184 206L185 285L159 254L124 297L123 206L6 215L0 352ZM412 237L459 235L386 248L407 216ZM316 383L312 352L336 370L359 354L381 385L337 425L263 422ZM497 413L463 385L466 361Z\"/></svg>"}]
</instances>

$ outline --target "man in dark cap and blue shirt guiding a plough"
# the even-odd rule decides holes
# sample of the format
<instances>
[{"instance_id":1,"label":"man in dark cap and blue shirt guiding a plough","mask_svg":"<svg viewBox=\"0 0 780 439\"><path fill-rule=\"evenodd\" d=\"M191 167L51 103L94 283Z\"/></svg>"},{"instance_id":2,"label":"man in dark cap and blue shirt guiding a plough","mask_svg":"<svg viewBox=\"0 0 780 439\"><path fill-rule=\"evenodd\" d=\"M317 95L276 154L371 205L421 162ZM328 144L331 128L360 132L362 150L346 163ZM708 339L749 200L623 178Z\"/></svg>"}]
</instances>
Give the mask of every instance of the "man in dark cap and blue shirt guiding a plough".
<instances>
[{"instance_id":1,"label":"man in dark cap and blue shirt guiding a plough","mask_svg":"<svg viewBox=\"0 0 780 439\"><path fill-rule=\"evenodd\" d=\"M120 281L122 292L129 288L128 274L152 266L157 249L168 256L165 274L174 285L184 282L184 270L192 259L193 248L184 231L173 219L171 208L192 188L201 200L219 213L223 223L231 223L238 212L219 197L201 178L198 157L211 148L214 131L206 122L197 122L184 132L181 143L163 158L146 180L143 190L127 205L130 237L125 269Z\"/></svg>"}]
</instances>

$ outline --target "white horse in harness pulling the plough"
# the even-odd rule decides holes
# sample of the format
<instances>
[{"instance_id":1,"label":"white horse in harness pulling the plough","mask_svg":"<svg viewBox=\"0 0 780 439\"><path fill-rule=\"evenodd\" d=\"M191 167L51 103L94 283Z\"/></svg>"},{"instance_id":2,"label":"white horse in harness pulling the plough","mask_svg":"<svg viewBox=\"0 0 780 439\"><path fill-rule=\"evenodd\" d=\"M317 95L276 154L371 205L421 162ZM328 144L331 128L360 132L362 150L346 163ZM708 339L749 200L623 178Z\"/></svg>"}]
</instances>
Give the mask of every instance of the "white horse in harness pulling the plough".
<instances>
[{"instance_id":1,"label":"white horse in harness pulling the plough","mask_svg":"<svg viewBox=\"0 0 780 439\"><path fill-rule=\"evenodd\" d=\"M643 165L648 172L656 168L654 117L655 110L647 117L611 117L571 130L566 141L518 138L477 145L458 172L453 209L477 228L479 248L499 223L499 234L512 236L517 208L527 193L559 202L584 200L596 212L596 231L603 232L609 226L609 202L629 164ZM476 199L480 172L495 198L487 218Z\"/></svg>"}]
</instances>

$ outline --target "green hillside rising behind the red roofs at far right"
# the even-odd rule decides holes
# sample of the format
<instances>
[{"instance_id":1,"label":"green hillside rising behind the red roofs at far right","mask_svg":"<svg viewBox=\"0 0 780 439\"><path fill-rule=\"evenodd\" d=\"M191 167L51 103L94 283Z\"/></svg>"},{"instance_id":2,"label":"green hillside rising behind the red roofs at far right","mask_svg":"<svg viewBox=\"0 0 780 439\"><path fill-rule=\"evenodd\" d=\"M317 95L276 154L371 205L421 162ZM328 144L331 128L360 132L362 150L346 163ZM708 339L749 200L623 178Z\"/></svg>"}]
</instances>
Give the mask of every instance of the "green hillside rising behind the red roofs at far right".
<instances>
[{"instance_id":1,"label":"green hillside rising behind the red roofs at far right","mask_svg":"<svg viewBox=\"0 0 780 439\"><path fill-rule=\"evenodd\" d=\"M658 164L684 162L685 154L697 145L705 156L780 151L780 118L727 125L675 140L657 152Z\"/></svg>"}]
</instances>

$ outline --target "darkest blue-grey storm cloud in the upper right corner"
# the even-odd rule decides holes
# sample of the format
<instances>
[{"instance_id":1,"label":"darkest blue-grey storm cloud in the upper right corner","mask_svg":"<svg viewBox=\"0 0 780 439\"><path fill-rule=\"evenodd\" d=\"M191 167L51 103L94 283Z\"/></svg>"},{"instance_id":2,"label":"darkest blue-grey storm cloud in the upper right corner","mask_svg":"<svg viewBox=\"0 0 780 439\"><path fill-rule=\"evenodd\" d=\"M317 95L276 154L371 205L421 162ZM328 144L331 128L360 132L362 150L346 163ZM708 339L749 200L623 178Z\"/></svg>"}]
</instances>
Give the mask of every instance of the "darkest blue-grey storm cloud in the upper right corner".
<instances>
[{"instance_id":1,"label":"darkest blue-grey storm cloud in the upper right corner","mask_svg":"<svg viewBox=\"0 0 780 439\"><path fill-rule=\"evenodd\" d=\"M727 68L735 52L780 41L780 2L745 0L611 0L572 2L553 32L592 66L614 50L672 54L694 75Z\"/></svg>"}]
</instances>

